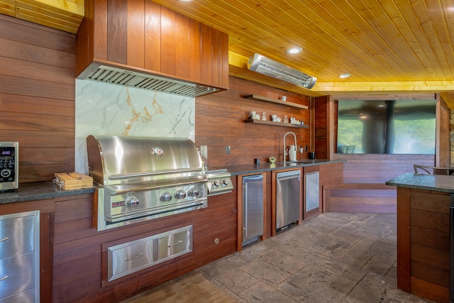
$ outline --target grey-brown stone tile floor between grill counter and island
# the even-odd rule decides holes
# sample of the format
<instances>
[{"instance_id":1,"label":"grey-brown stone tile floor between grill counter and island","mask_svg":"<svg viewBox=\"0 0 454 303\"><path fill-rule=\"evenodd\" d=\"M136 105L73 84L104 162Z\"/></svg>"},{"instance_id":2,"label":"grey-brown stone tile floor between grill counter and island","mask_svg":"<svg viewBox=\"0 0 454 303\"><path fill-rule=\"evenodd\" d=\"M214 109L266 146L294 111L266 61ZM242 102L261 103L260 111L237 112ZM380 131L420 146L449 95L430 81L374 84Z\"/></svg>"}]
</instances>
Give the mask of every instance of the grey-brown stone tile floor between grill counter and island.
<instances>
[{"instance_id":1,"label":"grey-brown stone tile floor between grill counter and island","mask_svg":"<svg viewBox=\"0 0 454 303\"><path fill-rule=\"evenodd\" d=\"M396 214L326 213L196 270L238 302L430 302L396 287Z\"/></svg>"}]
</instances>

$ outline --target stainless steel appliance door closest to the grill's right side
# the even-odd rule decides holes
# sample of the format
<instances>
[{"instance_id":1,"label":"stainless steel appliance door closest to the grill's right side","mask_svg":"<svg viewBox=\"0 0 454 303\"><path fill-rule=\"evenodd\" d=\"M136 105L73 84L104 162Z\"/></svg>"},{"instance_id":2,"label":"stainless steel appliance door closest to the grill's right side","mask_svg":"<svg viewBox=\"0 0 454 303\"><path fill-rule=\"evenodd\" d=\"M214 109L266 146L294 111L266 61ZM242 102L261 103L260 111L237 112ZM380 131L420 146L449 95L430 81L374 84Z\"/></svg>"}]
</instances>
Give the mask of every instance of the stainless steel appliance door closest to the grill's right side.
<instances>
[{"instance_id":1,"label":"stainless steel appliance door closest to the grill's right side","mask_svg":"<svg viewBox=\"0 0 454 303\"><path fill-rule=\"evenodd\" d=\"M258 241L263 234L263 175L243 177L243 243Z\"/></svg>"}]
</instances>

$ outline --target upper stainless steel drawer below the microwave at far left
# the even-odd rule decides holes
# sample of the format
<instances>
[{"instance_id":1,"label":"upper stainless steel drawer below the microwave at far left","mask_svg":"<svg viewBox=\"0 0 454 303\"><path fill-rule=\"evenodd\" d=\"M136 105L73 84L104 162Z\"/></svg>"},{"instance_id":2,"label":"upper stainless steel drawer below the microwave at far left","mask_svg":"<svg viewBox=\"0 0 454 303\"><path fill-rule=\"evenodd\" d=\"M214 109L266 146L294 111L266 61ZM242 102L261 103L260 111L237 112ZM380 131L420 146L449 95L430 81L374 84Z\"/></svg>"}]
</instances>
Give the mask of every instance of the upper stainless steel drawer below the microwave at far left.
<instances>
[{"instance_id":1,"label":"upper stainless steel drawer below the microwave at far left","mask_svg":"<svg viewBox=\"0 0 454 303\"><path fill-rule=\"evenodd\" d=\"M34 216L0 220L0 258L22 255L33 251Z\"/></svg>"}]
</instances>

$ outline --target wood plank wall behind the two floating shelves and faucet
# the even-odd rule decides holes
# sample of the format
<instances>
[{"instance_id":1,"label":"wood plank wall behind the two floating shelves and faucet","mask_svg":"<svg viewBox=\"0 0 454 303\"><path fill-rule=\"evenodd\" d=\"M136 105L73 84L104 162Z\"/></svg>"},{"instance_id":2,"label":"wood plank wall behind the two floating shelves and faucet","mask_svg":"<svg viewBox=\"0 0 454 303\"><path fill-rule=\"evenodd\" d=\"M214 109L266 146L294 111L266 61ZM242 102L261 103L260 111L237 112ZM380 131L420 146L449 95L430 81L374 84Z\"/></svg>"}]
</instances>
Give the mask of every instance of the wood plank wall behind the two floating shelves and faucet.
<instances>
[{"instance_id":1,"label":"wood plank wall behind the two floating shelves and faucet","mask_svg":"<svg viewBox=\"0 0 454 303\"><path fill-rule=\"evenodd\" d=\"M282 161L283 138L292 131L297 135L298 145L309 149L309 128L268 126L244 123L250 111L265 112L270 120L272 114L284 119L296 117L309 123L309 110L279 104L244 99L248 94L258 94L273 99L287 97L287 102L309 106L309 97L291 94L272 87L255 84L236 77L229 78L230 89L196 99L196 145L208 145L209 167L253 164L254 159L266 162L270 156ZM293 136L287 136L286 143L293 143ZM231 146L226 155L226 145ZM307 158L307 153L298 153L298 159Z\"/></svg>"}]
</instances>

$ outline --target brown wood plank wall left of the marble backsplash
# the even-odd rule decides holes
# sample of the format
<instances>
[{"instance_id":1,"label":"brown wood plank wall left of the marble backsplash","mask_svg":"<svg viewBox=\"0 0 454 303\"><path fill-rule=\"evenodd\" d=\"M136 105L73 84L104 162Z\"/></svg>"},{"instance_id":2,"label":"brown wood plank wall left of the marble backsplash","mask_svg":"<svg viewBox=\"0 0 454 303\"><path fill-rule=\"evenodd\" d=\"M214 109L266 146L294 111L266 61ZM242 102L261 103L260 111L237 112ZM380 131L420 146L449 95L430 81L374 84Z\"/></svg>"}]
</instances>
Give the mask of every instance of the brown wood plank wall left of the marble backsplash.
<instances>
[{"instance_id":1,"label":"brown wood plank wall left of the marble backsplash","mask_svg":"<svg viewBox=\"0 0 454 303\"><path fill-rule=\"evenodd\" d=\"M0 15L0 141L19 143L19 182L74 170L75 35Z\"/></svg>"}]
</instances>

